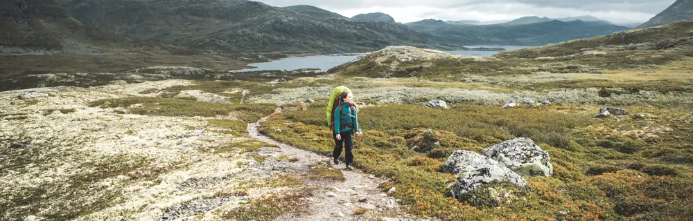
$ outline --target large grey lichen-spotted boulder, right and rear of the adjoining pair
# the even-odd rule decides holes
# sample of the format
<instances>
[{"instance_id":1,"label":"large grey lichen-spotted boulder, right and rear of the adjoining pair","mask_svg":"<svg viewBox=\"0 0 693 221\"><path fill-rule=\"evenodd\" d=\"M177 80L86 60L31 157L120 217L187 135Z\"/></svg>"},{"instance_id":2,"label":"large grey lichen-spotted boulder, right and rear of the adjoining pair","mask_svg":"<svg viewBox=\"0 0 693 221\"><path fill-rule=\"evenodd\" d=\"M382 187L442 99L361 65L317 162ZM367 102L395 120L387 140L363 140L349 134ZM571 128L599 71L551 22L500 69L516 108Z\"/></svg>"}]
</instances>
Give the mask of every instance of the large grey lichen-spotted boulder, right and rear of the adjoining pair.
<instances>
[{"instance_id":1,"label":"large grey lichen-spotted boulder, right and rear of the adjoining pair","mask_svg":"<svg viewBox=\"0 0 693 221\"><path fill-rule=\"evenodd\" d=\"M518 137L481 151L482 155L491 157L512 171L523 176L543 175L550 177L554 174L549 153L536 146L531 139Z\"/></svg>"}]
</instances>

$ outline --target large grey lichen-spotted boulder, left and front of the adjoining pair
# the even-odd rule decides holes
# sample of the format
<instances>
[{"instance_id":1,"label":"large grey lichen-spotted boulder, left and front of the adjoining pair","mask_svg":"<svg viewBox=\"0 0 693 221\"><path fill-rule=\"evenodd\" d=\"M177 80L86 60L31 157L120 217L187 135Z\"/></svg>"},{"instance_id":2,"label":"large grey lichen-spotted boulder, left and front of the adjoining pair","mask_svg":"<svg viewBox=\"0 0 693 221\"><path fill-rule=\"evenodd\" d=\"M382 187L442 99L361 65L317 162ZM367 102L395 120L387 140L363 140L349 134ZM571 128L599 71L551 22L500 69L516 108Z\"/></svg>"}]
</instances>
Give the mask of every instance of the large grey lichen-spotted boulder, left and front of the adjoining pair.
<instances>
[{"instance_id":1,"label":"large grey lichen-spotted boulder, left and front of the adjoining pair","mask_svg":"<svg viewBox=\"0 0 693 221\"><path fill-rule=\"evenodd\" d=\"M482 184L491 182L510 182L516 186L525 186L527 181L518 173L511 171L499 162L471 151L455 151L445 162L444 173L457 174L457 182L450 192L453 197L461 198L464 193L478 189Z\"/></svg>"}]
</instances>

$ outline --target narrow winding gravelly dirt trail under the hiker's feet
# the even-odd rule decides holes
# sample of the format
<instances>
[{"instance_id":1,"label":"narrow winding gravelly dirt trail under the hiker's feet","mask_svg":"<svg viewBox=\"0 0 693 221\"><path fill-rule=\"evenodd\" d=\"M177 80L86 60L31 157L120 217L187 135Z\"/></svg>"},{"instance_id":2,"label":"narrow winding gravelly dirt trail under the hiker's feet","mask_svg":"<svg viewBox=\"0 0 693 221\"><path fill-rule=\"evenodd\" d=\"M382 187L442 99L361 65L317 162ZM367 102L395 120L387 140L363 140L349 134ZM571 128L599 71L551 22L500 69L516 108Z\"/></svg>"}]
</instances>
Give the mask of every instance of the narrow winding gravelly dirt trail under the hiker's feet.
<instances>
[{"instance_id":1,"label":"narrow winding gravelly dirt trail under the hiker's feet","mask_svg":"<svg viewBox=\"0 0 693 221\"><path fill-rule=\"evenodd\" d=\"M277 109L279 114L281 111ZM249 124L247 130L251 137L257 140L274 144L279 148L263 148L263 151L258 155L267 156L265 161L266 166L277 167L276 162L270 161L270 158L279 155L288 157L296 157L297 162L285 162L286 165L281 165L291 171L302 172L305 165L319 164L321 162L330 162L331 157L318 155L310 151L305 151L288 144L283 144L270 137L258 133L258 127L268 117L261 119L258 123ZM358 156L356 156L358 157ZM345 182L322 182L313 183L310 185L320 186L315 191L312 198L309 198L310 205L308 209L297 213L285 214L277 218L277 220L407 220L412 215L407 215L398 204L398 200L390 197L378 188L378 185L387 182L381 177L374 177L358 171L347 171L344 169L344 162L340 164L332 164L333 168L339 169L346 178ZM354 209L364 208L369 212L364 215L356 215Z\"/></svg>"}]
</instances>

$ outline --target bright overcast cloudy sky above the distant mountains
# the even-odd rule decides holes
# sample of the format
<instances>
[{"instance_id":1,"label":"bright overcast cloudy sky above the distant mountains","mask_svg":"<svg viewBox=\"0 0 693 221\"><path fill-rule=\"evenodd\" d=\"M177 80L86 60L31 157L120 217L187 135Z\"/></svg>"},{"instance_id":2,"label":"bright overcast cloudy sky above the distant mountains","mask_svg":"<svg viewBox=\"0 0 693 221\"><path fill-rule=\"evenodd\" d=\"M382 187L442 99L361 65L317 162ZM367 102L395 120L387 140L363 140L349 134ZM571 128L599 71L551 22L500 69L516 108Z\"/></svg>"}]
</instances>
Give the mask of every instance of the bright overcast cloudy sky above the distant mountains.
<instances>
[{"instance_id":1,"label":"bright overcast cloudy sky above the distant mountains","mask_svg":"<svg viewBox=\"0 0 693 221\"><path fill-rule=\"evenodd\" d=\"M643 23L676 0L256 0L270 6L310 5L346 17L383 12L398 22L422 19L511 20L525 16L592 15L613 23Z\"/></svg>"}]
</instances>

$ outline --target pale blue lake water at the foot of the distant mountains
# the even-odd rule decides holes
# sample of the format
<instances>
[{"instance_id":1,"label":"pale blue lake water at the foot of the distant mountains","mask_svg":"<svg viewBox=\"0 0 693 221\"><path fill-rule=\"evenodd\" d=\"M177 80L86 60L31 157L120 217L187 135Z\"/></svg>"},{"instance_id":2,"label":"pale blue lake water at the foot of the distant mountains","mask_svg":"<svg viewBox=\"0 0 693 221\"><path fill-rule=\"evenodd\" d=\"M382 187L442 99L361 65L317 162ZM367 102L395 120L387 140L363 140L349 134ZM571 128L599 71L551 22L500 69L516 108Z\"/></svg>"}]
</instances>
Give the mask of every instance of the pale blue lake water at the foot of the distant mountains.
<instances>
[{"instance_id":1,"label":"pale blue lake water at the foot of the distant mountains","mask_svg":"<svg viewBox=\"0 0 693 221\"><path fill-rule=\"evenodd\" d=\"M516 50L528 48L529 46L466 46L467 48L505 48L506 50ZM480 51L480 50L453 50L446 51L455 55L479 55L482 57L491 57L499 51ZM356 59L361 54L338 54L338 55L313 55L304 57L288 57L285 59L274 60L270 62L248 64L256 68L247 68L236 70L236 72L257 71L257 70L296 70L302 68L319 68L328 70L340 64L347 63Z\"/></svg>"}]
</instances>

